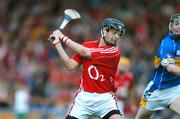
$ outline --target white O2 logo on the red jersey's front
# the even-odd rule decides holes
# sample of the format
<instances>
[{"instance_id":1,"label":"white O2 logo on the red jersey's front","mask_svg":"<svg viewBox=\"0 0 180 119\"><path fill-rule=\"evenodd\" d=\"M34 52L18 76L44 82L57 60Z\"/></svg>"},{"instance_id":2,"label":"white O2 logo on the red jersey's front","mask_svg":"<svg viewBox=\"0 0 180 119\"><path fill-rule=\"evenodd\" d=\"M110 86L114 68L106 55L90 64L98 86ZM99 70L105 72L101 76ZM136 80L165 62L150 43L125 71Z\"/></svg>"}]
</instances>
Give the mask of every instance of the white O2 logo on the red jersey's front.
<instances>
[{"instance_id":1,"label":"white O2 logo on the red jersey's front","mask_svg":"<svg viewBox=\"0 0 180 119\"><path fill-rule=\"evenodd\" d=\"M91 73L93 70L95 71L94 76ZM88 74L89 74L89 77L93 80L98 80L100 78L100 81L105 81L104 75L99 74L99 71L97 70L96 66L94 66L94 65L91 65L88 67Z\"/></svg>"}]
</instances>

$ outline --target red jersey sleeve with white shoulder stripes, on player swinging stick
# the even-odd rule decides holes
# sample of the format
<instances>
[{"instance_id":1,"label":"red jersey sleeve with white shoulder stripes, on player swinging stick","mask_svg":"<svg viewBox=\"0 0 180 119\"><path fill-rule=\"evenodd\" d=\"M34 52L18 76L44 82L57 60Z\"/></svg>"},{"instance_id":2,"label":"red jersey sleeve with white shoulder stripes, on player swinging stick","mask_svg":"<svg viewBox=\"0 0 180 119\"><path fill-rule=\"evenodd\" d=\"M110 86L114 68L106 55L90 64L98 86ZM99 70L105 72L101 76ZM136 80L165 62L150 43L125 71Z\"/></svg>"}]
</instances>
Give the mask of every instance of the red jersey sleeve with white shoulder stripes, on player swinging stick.
<instances>
[{"instance_id":1,"label":"red jersey sleeve with white shoulder stripes, on player swinging stick","mask_svg":"<svg viewBox=\"0 0 180 119\"><path fill-rule=\"evenodd\" d=\"M118 47L91 48L92 58L112 57L119 54Z\"/></svg>"}]
</instances>

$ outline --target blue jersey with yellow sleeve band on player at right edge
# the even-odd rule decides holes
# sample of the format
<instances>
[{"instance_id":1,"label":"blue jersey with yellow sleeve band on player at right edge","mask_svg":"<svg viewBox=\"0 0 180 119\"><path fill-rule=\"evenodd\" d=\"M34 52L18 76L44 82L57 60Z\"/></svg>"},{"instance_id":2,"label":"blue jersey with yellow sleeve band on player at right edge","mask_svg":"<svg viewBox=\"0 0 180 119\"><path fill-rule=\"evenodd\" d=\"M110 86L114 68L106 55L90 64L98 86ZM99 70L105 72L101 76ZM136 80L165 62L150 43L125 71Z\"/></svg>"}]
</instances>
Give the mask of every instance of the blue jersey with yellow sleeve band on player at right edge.
<instances>
[{"instance_id":1,"label":"blue jersey with yellow sleeve band on player at right edge","mask_svg":"<svg viewBox=\"0 0 180 119\"><path fill-rule=\"evenodd\" d=\"M180 40L175 40L172 32L162 40L154 59L154 89L166 89L180 84L180 76L168 72L166 63L180 67Z\"/></svg>"}]
</instances>

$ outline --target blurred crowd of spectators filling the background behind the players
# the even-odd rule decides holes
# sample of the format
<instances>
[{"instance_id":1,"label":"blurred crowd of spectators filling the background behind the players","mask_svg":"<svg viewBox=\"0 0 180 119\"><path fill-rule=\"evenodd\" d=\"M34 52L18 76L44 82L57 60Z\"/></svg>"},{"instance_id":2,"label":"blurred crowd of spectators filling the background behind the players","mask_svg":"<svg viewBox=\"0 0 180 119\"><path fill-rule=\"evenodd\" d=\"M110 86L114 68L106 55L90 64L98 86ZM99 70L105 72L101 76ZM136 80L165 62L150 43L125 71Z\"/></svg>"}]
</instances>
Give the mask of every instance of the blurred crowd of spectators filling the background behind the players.
<instances>
[{"instance_id":1,"label":"blurred crowd of spectators filling the background behind the players","mask_svg":"<svg viewBox=\"0 0 180 119\"><path fill-rule=\"evenodd\" d=\"M0 119L4 119L1 110L14 110L19 114L17 117L32 111L40 112L41 119L48 118L49 113L55 119L65 116L78 88L81 68L67 72L47 41L61 23L64 9L73 8L81 14L80 20L72 21L63 30L78 43L97 40L106 17L125 23L126 34L118 45L122 56L131 62L137 102L151 78L153 56L168 31L169 16L180 13L179 0L0 2ZM169 111L154 116L154 119L176 118Z\"/></svg>"}]
</instances>

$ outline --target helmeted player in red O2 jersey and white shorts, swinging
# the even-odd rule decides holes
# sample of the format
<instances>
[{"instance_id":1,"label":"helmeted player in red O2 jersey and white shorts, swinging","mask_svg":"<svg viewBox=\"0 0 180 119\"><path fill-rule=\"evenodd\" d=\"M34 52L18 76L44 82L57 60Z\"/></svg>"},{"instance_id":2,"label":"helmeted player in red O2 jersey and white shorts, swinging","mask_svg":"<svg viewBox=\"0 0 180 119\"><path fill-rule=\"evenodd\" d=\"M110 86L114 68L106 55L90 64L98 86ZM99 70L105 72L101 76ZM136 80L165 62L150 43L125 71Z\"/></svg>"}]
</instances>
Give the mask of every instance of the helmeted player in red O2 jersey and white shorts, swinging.
<instances>
[{"instance_id":1,"label":"helmeted player in red O2 jersey and white shorts, swinging","mask_svg":"<svg viewBox=\"0 0 180 119\"><path fill-rule=\"evenodd\" d=\"M50 35L50 38L54 38L51 42L67 70L83 65L80 88L66 119L89 119L92 115L102 119L121 119L113 91L120 58L116 45L124 33L124 24L120 20L106 18L100 40L80 45L59 30ZM70 47L76 54L70 58L61 43Z\"/></svg>"}]
</instances>

